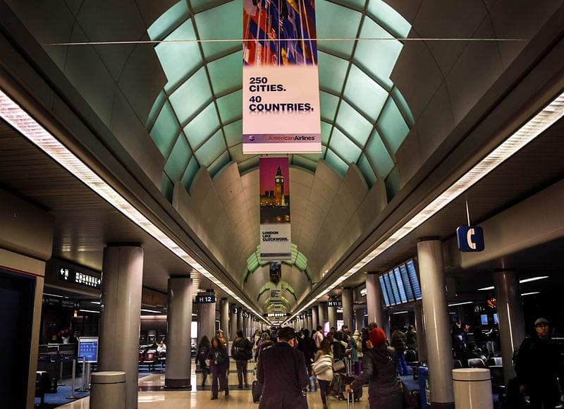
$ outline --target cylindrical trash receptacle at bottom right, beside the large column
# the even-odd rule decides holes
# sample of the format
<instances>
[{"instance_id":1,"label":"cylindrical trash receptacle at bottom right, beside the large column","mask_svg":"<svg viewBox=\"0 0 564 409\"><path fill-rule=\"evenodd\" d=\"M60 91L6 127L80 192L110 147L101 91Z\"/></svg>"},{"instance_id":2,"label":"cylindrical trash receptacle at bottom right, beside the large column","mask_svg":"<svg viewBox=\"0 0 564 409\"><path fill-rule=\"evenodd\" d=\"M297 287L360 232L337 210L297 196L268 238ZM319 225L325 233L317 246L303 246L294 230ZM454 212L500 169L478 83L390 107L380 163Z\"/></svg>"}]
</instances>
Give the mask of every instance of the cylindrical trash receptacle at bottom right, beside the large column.
<instances>
[{"instance_id":1,"label":"cylindrical trash receptacle at bottom right, beside the large column","mask_svg":"<svg viewBox=\"0 0 564 409\"><path fill-rule=\"evenodd\" d=\"M494 409L489 370L484 368L453 370L453 386L456 409Z\"/></svg>"}]
</instances>

